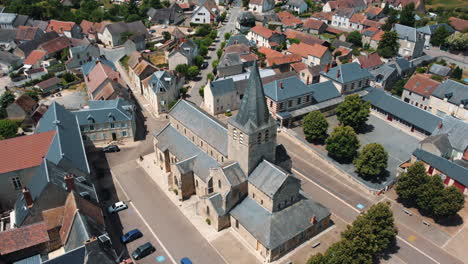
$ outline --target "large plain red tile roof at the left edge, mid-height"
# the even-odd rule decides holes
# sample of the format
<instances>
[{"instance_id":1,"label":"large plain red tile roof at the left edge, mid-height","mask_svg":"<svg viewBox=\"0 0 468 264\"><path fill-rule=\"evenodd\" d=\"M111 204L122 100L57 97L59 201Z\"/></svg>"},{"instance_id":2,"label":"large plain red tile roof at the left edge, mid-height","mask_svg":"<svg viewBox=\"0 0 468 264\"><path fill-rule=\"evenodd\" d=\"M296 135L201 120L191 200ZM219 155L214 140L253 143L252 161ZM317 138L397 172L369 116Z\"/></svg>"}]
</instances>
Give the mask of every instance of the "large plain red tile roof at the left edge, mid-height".
<instances>
[{"instance_id":1,"label":"large plain red tile roof at the left edge, mid-height","mask_svg":"<svg viewBox=\"0 0 468 264\"><path fill-rule=\"evenodd\" d=\"M55 130L0 140L0 173L39 166L54 135Z\"/></svg>"}]
</instances>

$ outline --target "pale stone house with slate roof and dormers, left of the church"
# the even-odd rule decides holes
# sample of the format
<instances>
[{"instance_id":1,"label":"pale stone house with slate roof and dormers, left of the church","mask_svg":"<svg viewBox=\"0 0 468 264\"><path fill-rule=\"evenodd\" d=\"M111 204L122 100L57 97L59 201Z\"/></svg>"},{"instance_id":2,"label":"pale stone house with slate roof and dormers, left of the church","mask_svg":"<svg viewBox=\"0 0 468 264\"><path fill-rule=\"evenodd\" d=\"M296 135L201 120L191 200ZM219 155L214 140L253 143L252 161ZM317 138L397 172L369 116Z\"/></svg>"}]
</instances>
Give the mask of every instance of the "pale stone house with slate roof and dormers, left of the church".
<instances>
[{"instance_id":1,"label":"pale stone house with slate roof and dormers, left of the church","mask_svg":"<svg viewBox=\"0 0 468 264\"><path fill-rule=\"evenodd\" d=\"M122 98L89 101L88 107L72 113L78 120L85 145L135 139L135 106Z\"/></svg>"}]
</instances>

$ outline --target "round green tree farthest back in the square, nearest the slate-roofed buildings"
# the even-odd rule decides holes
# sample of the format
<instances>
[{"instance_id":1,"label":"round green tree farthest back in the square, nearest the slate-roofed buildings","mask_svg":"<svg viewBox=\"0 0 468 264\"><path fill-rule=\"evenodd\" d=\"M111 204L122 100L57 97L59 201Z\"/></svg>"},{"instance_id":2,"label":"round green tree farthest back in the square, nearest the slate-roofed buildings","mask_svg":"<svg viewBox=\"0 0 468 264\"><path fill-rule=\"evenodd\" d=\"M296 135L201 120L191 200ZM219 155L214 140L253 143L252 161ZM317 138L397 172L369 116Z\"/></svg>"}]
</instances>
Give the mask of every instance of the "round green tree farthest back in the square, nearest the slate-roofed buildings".
<instances>
[{"instance_id":1,"label":"round green tree farthest back in the square, nearest the slate-roofed buildings","mask_svg":"<svg viewBox=\"0 0 468 264\"><path fill-rule=\"evenodd\" d=\"M344 126L350 126L355 130L362 127L369 118L370 102L365 102L357 94L346 96L336 108L336 116Z\"/></svg>"}]
</instances>

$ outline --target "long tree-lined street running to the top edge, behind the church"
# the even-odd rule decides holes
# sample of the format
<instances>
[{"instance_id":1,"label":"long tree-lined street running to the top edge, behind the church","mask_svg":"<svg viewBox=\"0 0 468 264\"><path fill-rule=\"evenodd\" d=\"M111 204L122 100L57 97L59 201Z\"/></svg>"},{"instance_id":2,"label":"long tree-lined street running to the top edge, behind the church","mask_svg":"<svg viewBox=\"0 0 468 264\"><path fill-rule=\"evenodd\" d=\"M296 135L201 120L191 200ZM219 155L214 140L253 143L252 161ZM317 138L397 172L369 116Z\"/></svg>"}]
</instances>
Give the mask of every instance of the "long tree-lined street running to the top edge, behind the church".
<instances>
[{"instance_id":1,"label":"long tree-lined street running to the top edge, behind the church","mask_svg":"<svg viewBox=\"0 0 468 264\"><path fill-rule=\"evenodd\" d=\"M207 82L206 76L208 75L208 73L213 72L213 66L211 64L213 63L213 61L218 59L218 56L216 55L216 51L221 47L221 42L224 41L224 33L235 30L236 18L239 15L240 11L241 11L240 7L233 7L229 10L228 22L224 24L218 30L219 38L216 40L216 42L213 42L213 45L211 46L210 51L208 53L208 56L209 56L209 59L207 60L209 64L208 68L200 72L201 80L196 81L196 82L190 82L191 88L188 91L188 95L189 95L189 97L187 98L188 101L191 101L198 106L200 106L201 103L203 102L203 98L198 93L198 90L202 86L206 85L206 82Z\"/></svg>"}]
</instances>

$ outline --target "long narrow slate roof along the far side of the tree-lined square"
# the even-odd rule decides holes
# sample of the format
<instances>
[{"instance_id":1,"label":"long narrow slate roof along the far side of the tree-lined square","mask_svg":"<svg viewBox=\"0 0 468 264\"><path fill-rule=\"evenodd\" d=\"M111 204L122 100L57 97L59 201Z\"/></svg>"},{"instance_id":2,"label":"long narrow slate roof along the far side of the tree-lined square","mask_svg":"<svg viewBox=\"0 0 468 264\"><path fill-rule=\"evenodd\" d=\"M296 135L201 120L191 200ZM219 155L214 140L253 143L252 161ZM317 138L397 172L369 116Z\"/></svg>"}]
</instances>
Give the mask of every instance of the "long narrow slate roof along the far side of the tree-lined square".
<instances>
[{"instance_id":1,"label":"long narrow slate roof along the far side of the tree-lined square","mask_svg":"<svg viewBox=\"0 0 468 264\"><path fill-rule=\"evenodd\" d=\"M387 113L392 114L428 133L432 133L434 129L442 122L442 119L418 107L407 104L402 100L393 97L383 90L369 88L369 93L362 97L363 100L371 102L371 104Z\"/></svg>"}]
</instances>

